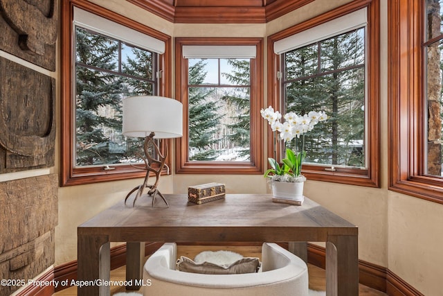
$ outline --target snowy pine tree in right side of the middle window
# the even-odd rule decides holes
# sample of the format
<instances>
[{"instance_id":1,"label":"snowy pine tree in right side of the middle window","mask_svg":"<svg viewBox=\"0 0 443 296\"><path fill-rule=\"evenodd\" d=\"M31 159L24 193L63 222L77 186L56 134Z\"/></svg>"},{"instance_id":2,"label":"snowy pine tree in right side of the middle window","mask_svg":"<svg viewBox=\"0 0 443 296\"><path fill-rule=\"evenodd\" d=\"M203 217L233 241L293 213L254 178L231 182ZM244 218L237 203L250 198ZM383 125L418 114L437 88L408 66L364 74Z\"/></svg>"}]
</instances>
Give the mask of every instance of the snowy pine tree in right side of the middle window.
<instances>
[{"instance_id":1,"label":"snowy pine tree in right side of the middle window","mask_svg":"<svg viewBox=\"0 0 443 296\"><path fill-rule=\"evenodd\" d=\"M251 63L249 60L229 59L228 64L233 67L234 71L222 73L222 75L232 85L251 85ZM240 148L238 157L249 157L251 154L250 93L250 87L237 87L235 92L222 97L234 110L235 116L231 117L233 123L227 125L231 132L226 137L233 146Z\"/></svg>"}]
</instances>

